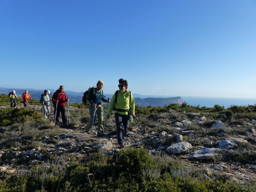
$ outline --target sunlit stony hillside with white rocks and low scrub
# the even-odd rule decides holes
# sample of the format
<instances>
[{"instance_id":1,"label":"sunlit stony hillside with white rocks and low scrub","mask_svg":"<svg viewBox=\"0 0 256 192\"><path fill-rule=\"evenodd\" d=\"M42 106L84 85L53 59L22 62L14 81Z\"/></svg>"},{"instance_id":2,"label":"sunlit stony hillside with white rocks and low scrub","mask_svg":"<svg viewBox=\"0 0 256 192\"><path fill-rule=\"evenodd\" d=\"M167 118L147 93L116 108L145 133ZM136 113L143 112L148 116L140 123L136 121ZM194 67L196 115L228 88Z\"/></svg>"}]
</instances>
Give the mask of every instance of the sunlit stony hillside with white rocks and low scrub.
<instances>
[{"instance_id":1,"label":"sunlit stony hillside with white rocks and low scrub","mask_svg":"<svg viewBox=\"0 0 256 192\"><path fill-rule=\"evenodd\" d=\"M40 113L40 106L30 105L30 108ZM148 154L179 161L180 167L174 175L197 174L204 179L232 180L245 185L256 182L256 118L248 118L249 115L255 117L255 106L235 114L231 113L233 108L219 109L218 105L182 109L173 104L158 112L154 109L147 115L143 115L147 113L142 111L145 109L140 109L141 115L131 123L125 136L126 148L142 147ZM13 175L32 167L49 166L50 159L66 154L82 159L92 152L103 152L107 156L125 150L117 143L113 115L105 123L103 137L96 136L97 126L91 135L84 132L88 109L70 106L70 121L67 128L54 126L53 116L41 123L27 121L2 126L0 173ZM29 128L25 128L28 125ZM33 137L24 136L25 129ZM16 138L14 143L10 143L12 135Z\"/></svg>"}]
</instances>

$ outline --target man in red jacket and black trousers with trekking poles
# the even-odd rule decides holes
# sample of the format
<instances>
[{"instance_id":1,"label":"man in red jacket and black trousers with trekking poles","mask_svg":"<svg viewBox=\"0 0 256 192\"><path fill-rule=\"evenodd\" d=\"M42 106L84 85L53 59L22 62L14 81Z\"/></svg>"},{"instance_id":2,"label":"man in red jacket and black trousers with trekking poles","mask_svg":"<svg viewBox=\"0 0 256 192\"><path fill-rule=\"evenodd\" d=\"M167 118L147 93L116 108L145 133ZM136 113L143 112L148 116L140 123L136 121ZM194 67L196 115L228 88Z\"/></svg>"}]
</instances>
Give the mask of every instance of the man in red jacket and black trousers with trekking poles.
<instances>
[{"instance_id":1,"label":"man in red jacket and black trousers with trekking poles","mask_svg":"<svg viewBox=\"0 0 256 192\"><path fill-rule=\"evenodd\" d=\"M65 101L69 101L67 98L67 94L64 92L64 86L61 85L60 88L53 94L52 96L52 103L54 103L54 114L56 114L56 123L59 123L60 113L62 118L62 123L64 127L68 126L67 117L66 117L66 110L65 110ZM56 112L56 105L57 105L57 112Z\"/></svg>"}]
</instances>

